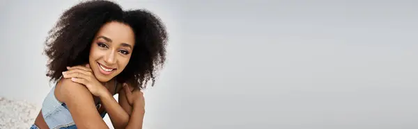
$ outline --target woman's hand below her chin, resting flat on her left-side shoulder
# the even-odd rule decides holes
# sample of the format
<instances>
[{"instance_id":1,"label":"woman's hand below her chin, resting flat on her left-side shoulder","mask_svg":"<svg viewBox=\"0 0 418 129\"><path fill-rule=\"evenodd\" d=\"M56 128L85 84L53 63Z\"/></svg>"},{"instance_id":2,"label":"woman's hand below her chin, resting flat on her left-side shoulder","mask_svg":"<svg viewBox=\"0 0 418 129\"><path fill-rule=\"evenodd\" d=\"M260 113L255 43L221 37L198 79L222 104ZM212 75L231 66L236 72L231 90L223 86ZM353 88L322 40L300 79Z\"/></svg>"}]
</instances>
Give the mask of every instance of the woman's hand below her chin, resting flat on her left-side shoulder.
<instances>
[{"instance_id":1,"label":"woman's hand below her chin, resting flat on her left-side shoulder","mask_svg":"<svg viewBox=\"0 0 418 129\"><path fill-rule=\"evenodd\" d=\"M97 80L87 64L85 67L82 65L75 67L67 67L68 71L63 72L64 78L71 78L75 83L83 84L94 96L102 96L106 94L107 89L102 83Z\"/></svg>"}]
</instances>

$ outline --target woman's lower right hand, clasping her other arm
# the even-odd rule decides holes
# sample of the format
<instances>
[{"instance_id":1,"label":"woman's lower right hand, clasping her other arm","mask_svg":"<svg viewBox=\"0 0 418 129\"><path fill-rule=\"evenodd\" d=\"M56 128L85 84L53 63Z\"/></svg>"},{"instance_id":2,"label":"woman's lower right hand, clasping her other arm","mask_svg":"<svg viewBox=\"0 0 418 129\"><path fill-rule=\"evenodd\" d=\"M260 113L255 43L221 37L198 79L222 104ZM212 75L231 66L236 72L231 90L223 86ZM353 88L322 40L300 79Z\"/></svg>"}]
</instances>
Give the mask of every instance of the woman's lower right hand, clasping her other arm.
<instances>
[{"instance_id":1,"label":"woman's lower right hand, clasping her other arm","mask_svg":"<svg viewBox=\"0 0 418 129\"><path fill-rule=\"evenodd\" d=\"M131 90L126 83L123 83L123 89L125 89L127 103L129 103L134 110L145 112L145 98L141 90L137 88Z\"/></svg>"}]
</instances>

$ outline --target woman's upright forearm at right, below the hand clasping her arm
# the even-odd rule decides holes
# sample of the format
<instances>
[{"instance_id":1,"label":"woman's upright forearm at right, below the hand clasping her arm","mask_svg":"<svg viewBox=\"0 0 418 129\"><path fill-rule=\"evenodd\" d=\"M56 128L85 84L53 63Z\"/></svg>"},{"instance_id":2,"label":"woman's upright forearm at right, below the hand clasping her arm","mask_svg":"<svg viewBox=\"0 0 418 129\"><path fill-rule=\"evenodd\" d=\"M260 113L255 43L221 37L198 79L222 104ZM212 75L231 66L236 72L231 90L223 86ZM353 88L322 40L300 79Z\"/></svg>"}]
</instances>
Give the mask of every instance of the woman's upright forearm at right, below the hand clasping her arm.
<instances>
[{"instance_id":1,"label":"woman's upright forearm at right, below the hand clasping her arm","mask_svg":"<svg viewBox=\"0 0 418 129\"><path fill-rule=\"evenodd\" d=\"M130 116L129 119L129 123L127 123L126 128L127 129L131 129L131 128L142 128L142 124L144 122L144 114L145 114L145 110L144 107L141 107L141 105L134 105L133 109L132 109L132 114Z\"/></svg>"}]
</instances>

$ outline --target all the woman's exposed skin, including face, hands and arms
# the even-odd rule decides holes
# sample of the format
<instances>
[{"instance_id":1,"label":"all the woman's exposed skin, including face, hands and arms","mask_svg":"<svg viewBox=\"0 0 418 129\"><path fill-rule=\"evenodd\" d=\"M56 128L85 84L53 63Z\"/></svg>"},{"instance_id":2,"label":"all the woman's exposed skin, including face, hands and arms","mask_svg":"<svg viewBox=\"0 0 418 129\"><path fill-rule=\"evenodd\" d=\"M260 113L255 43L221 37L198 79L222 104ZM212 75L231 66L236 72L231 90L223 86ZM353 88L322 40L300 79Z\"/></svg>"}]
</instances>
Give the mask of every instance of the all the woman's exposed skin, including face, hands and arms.
<instances>
[{"instance_id":1,"label":"all the woman's exposed skin, including face, hands and arms","mask_svg":"<svg viewBox=\"0 0 418 129\"><path fill-rule=\"evenodd\" d=\"M54 93L68 106L77 128L108 128L95 107L95 98L102 101L102 108L109 114L114 128L142 128L143 93L124 83L123 88L118 88L119 103L112 94L115 88L111 82L127 66L134 42L130 26L119 22L104 24L92 42L88 64L68 67L68 71L63 72ZM102 74L99 64L114 71L109 75ZM38 118L36 124L37 121ZM45 121L38 123L46 125Z\"/></svg>"}]
</instances>

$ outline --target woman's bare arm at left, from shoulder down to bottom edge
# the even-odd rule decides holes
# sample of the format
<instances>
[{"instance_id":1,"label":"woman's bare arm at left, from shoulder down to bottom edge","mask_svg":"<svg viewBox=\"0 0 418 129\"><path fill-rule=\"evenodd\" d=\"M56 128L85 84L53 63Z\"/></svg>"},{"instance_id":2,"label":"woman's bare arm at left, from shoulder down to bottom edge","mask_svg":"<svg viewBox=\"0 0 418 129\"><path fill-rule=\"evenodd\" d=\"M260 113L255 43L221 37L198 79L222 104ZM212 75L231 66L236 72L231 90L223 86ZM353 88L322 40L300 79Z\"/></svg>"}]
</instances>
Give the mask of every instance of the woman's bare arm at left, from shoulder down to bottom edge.
<instances>
[{"instance_id":1,"label":"woman's bare arm at left, from shoulder down to bottom edge","mask_svg":"<svg viewBox=\"0 0 418 129\"><path fill-rule=\"evenodd\" d=\"M67 105L77 128L108 128L95 108L93 95L84 85L63 78L57 92Z\"/></svg>"}]
</instances>

